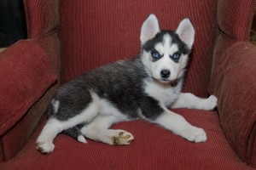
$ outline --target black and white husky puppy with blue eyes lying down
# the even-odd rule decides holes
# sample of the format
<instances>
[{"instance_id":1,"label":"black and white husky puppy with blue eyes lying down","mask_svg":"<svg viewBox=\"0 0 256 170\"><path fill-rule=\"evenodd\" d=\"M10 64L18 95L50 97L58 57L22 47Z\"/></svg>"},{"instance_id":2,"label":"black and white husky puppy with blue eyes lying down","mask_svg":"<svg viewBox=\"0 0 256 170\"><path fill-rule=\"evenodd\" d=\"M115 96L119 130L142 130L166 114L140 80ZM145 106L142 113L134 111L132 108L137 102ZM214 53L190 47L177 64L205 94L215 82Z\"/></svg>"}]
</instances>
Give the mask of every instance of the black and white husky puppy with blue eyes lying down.
<instances>
[{"instance_id":1,"label":"black and white husky puppy with blue eyes lying down","mask_svg":"<svg viewBox=\"0 0 256 170\"><path fill-rule=\"evenodd\" d=\"M160 31L157 18L150 14L141 29L142 48L136 58L84 73L57 91L37 149L53 151L53 140L61 132L83 143L86 137L112 145L130 144L131 133L109 127L135 119L159 124L192 142L207 141L202 128L168 109L212 110L217 105L215 96L200 99L181 93L194 37L189 19L182 20L176 31Z\"/></svg>"}]
</instances>

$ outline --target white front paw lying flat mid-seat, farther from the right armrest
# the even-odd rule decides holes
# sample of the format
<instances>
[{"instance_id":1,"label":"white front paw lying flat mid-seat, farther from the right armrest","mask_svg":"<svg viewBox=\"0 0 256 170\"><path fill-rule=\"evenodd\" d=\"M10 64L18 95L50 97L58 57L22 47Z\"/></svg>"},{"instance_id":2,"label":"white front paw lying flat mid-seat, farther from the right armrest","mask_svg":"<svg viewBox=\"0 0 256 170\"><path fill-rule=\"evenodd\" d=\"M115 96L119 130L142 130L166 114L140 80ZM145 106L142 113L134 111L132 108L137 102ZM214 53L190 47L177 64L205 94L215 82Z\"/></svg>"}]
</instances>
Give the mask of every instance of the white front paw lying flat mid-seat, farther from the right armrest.
<instances>
[{"instance_id":1,"label":"white front paw lying flat mid-seat, farther from the right armrest","mask_svg":"<svg viewBox=\"0 0 256 170\"><path fill-rule=\"evenodd\" d=\"M199 143L207 141L207 133L198 127L188 127L180 135L190 142Z\"/></svg>"}]
</instances>

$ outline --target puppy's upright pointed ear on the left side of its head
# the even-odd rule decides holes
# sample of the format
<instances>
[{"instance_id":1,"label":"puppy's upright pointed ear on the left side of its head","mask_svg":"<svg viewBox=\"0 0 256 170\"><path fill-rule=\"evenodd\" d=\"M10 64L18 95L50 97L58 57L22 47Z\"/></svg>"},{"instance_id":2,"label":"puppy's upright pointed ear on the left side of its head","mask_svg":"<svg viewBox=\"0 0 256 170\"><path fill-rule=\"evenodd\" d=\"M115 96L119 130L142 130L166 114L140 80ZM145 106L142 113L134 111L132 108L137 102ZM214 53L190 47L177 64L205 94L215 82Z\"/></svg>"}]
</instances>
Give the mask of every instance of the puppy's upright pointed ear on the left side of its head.
<instances>
[{"instance_id":1,"label":"puppy's upright pointed ear on the left side of its head","mask_svg":"<svg viewBox=\"0 0 256 170\"><path fill-rule=\"evenodd\" d=\"M141 29L141 43L144 44L148 40L154 38L160 31L158 20L154 14L149 14L148 18L143 22Z\"/></svg>"}]
</instances>

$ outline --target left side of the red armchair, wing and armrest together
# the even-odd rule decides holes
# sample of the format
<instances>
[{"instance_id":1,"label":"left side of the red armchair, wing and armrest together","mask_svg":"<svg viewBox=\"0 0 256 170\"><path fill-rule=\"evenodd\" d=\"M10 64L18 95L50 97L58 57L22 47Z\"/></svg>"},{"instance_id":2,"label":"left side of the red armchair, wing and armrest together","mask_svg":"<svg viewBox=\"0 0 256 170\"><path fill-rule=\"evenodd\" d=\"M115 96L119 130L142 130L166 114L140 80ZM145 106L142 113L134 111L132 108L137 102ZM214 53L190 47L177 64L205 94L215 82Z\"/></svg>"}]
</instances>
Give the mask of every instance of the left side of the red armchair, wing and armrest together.
<instances>
[{"instance_id":1,"label":"left side of the red armchair, wing and armrest together","mask_svg":"<svg viewBox=\"0 0 256 170\"><path fill-rule=\"evenodd\" d=\"M24 1L24 6L29 39L0 54L0 162L13 158L31 138L60 84L58 1Z\"/></svg>"}]
</instances>

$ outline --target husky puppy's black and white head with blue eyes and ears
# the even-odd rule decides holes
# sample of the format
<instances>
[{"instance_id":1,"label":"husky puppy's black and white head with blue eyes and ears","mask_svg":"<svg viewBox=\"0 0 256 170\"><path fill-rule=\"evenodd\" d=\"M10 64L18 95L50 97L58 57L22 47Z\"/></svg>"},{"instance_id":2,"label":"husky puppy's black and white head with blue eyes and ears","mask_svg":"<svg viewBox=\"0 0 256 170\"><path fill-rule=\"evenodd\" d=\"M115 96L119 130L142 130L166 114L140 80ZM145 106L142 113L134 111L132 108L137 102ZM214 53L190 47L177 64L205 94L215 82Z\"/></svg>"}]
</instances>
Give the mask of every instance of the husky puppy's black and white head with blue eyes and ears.
<instances>
[{"instance_id":1,"label":"husky puppy's black and white head with blue eyes and ears","mask_svg":"<svg viewBox=\"0 0 256 170\"><path fill-rule=\"evenodd\" d=\"M194 37L189 19L183 19L176 31L161 31L157 18L150 14L143 22L140 39L142 61L151 76L163 83L183 77Z\"/></svg>"}]
</instances>

